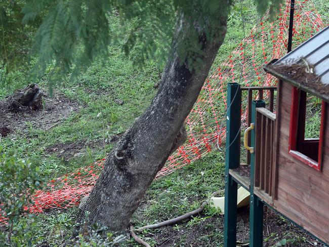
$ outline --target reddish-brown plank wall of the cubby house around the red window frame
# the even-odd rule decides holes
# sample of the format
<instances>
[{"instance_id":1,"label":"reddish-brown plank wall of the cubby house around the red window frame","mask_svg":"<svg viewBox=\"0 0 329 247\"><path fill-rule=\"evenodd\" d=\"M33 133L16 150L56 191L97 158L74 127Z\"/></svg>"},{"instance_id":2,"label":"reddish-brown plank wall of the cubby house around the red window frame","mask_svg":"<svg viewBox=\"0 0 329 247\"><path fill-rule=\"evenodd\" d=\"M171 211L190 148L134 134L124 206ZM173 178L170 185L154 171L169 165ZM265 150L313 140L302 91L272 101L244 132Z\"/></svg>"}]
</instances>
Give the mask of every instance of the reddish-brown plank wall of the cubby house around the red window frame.
<instances>
[{"instance_id":1,"label":"reddish-brown plank wall of the cubby house around the red window frame","mask_svg":"<svg viewBox=\"0 0 329 247\"><path fill-rule=\"evenodd\" d=\"M277 200L272 207L329 243L329 107L326 107L323 162L317 171L289 154L293 86L280 84ZM266 201L266 200L265 200Z\"/></svg>"}]
</instances>

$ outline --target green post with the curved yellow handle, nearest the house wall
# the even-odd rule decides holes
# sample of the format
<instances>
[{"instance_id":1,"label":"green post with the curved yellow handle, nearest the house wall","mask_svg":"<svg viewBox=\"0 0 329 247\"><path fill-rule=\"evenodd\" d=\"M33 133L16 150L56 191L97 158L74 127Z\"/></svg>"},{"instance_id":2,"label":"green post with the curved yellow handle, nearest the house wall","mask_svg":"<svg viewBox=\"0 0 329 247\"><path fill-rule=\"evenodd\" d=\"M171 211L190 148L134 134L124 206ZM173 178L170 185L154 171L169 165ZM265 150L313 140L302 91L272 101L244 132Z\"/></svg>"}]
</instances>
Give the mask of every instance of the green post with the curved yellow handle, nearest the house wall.
<instances>
[{"instance_id":1,"label":"green post with the curved yellow handle, nearest the house wall","mask_svg":"<svg viewBox=\"0 0 329 247\"><path fill-rule=\"evenodd\" d=\"M254 130L251 131L251 146L255 147L256 143L256 108L265 107L263 100L252 102L252 122L255 123ZM254 194L255 183L255 152L250 157L251 174L250 174L250 247L263 246L263 202Z\"/></svg>"}]
</instances>

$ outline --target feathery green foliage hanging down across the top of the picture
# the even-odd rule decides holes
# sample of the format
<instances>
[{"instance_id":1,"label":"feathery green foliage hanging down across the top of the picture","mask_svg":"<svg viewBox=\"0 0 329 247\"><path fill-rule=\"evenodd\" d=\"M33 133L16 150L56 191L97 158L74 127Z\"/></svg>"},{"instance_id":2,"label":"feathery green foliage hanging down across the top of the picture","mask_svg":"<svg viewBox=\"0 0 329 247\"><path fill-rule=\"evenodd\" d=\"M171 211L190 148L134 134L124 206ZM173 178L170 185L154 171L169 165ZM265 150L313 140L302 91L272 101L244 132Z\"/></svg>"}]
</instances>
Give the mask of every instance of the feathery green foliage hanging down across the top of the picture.
<instances>
[{"instance_id":1,"label":"feathery green foliage hanging down across the top of the picture","mask_svg":"<svg viewBox=\"0 0 329 247\"><path fill-rule=\"evenodd\" d=\"M255 1L264 12L269 4L278 7L281 0ZM54 82L72 68L75 75L97 58L105 61L110 56L108 46L118 44L126 55L134 54L136 64L147 59L161 63L173 55L170 48L177 46L180 60L197 68L201 62L199 34L195 31L181 44L181 37L174 38L177 17L184 15L191 30L197 25L210 38L220 25L219 12L228 11L231 4L230 0L27 0L24 23L47 13L32 47L38 57L33 72L42 76L52 65L50 81ZM117 28L111 29L116 21Z\"/></svg>"}]
</instances>

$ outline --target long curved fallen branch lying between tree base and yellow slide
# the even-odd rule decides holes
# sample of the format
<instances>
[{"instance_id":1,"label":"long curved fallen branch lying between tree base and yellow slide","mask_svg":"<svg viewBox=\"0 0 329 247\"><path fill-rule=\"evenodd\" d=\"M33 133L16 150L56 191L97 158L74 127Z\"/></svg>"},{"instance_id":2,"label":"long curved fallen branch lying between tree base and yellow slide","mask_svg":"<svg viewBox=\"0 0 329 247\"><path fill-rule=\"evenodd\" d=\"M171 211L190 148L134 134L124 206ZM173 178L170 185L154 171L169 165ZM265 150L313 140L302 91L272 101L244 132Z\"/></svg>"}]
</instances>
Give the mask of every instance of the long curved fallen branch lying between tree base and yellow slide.
<instances>
[{"instance_id":1,"label":"long curved fallen branch lying between tree base and yellow slide","mask_svg":"<svg viewBox=\"0 0 329 247\"><path fill-rule=\"evenodd\" d=\"M192 212L186 213L186 214L184 214L184 215L182 215L182 216L179 216L179 217L177 217L177 218L174 218L174 219L170 219L170 220L162 221L162 222L157 223L157 224L151 224L151 225L147 225L147 226L142 226L142 227L136 229L136 231L142 231L142 230L144 230L144 229L156 229L156 228L160 228L160 227L162 227L162 226L173 225L173 224L176 224L176 223L181 222L181 221L183 221L183 220L186 220L186 219L188 219L188 218L191 217L191 216L194 216L194 215L196 215L196 214L199 214L199 213L201 213L201 212L203 211L205 205L207 205L207 204L209 203L209 200L211 199L211 197L220 194L222 191L223 191L223 190L220 190L220 191L214 192L214 193L210 196L209 199L207 199L207 200L205 200L205 201L202 202L200 208L198 208L198 209L196 209L196 210L194 210L194 211L192 211Z\"/></svg>"}]
</instances>

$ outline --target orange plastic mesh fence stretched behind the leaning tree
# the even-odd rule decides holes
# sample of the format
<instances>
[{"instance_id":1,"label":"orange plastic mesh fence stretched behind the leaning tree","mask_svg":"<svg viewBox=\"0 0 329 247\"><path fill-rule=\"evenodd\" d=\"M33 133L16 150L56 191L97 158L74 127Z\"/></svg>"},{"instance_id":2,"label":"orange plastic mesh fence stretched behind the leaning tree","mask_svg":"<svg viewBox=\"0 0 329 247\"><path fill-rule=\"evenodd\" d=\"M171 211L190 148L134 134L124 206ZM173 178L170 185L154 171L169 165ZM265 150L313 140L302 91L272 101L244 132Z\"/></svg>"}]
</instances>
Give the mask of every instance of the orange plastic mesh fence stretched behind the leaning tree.
<instances>
[{"instance_id":1,"label":"orange plastic mesh fence stretched behind the leaning tree","mask_svg":"<svg viewBox=\"0 0 329 247\"><path fill-rule=\"evenodd\" d=\"M250 34L241 40L236 49L209 76L186 118L188 141L169 157L156 178L166 176L199 159L212 151L217 142L220 145L225 140L227 83L237 82L243 86L276 84L275 78L266 74L262 67L286 53L289 15L290 0L282 6L275 21L269 21L268 13L261 18ZM328 24L329 20L321 19L312 1L297 1L293 46L298 46ZM245 125L246 112L241 112L241 119ZM65 209L78 205L80 198L92 190L103 163L104 159L49 181L44 190L34 194L34 204L28 210L31 213L42 213L47 209ZM0 214L0 225L5 222L6 218Z\"/></svg>"}]
</instances>

